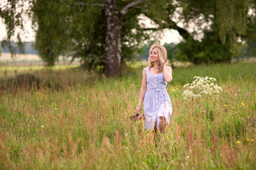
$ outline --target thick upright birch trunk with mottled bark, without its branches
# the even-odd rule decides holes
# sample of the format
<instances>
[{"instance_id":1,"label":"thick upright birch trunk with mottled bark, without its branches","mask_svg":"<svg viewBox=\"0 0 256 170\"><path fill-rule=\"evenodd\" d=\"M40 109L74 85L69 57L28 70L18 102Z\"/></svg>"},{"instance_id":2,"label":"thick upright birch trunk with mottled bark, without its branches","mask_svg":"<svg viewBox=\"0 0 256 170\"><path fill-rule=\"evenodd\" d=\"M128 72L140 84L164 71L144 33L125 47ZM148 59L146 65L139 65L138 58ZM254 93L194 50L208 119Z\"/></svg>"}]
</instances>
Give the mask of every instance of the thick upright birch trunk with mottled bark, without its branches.
<instances>
[{"instance_id":1,"label":"thick upright birch trunk with mottled bark, without its branches","mask_svg":"<svg viewBox=\"0 0 256 170\"><path fill-rule=\"evenodd\" d=\"M105 0L105 18L107 24L105 75L118 76L121 73L122 18L115 0Z\"/></svg>"}]
</instances>

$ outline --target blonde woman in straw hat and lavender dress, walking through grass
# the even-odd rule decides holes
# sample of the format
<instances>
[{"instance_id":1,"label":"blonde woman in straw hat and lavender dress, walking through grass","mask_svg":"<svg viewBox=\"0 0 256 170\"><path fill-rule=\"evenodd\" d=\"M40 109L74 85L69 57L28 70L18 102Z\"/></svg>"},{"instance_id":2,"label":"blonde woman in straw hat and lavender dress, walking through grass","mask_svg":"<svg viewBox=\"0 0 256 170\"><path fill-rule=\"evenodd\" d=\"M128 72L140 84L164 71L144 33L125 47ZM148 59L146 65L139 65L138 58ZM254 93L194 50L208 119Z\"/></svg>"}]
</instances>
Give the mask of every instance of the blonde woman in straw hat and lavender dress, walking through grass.
<instances>
[{"instance_id":1,"label":"blonde woman in straw hat and lavender dress, walking through grass","mask_svg":"<svg viewBox=\"0 0 256 170\"><path fill-rule=\"evenodd\" d=\"M168 67L167 51L159 44L153 44L149 50L149 66L142 72L142 89L139 94L139 104L136 113L142 111L144 100L145 129L159 128L164 132L166 123L169 124L172 106L166 91L167 83L172 80L172 70Z\"/></svg>"}]
</instances>

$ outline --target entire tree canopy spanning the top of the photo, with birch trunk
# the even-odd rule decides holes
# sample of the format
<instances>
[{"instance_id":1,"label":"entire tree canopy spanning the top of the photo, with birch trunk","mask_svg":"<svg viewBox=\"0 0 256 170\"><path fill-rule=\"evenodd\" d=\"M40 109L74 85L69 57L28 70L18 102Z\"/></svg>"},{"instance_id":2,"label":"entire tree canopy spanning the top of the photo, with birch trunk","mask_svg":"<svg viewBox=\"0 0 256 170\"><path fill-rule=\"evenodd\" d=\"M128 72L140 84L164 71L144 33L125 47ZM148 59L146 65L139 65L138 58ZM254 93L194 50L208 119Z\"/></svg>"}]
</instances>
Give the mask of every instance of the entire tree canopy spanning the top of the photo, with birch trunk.
<instances>
[{"instance_id":1,"label":"entire tree canopy spanning the top of the photo, with birch trunk","mask_svg":"<svg viewBox=\"0 0 256 170\"><path fill-rule=\"evenodd\" d=\"M164 28L183 37L172 57L196 64L230 61L240 42L256 38L255 4L252 0L9 0L1 6L0 17L9 42L15 28L23 28L22 14L31 16L37 28L36 49L48 65L59 55L79 57L82 67L100 68L111 76L149 42L153 31ZM140 26L142 14L158 28Z\"/></svg>"}]
</instances>

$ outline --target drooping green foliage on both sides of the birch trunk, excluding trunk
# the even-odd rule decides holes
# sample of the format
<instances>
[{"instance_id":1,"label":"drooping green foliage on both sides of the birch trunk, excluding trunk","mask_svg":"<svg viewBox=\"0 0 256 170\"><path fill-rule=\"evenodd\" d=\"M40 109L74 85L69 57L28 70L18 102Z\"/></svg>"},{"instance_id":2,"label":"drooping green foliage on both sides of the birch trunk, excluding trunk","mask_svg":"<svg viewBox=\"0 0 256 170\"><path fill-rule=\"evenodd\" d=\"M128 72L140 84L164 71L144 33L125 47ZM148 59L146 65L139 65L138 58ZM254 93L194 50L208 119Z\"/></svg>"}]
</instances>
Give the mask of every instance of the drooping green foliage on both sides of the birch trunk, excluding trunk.
<instances>
[{"instance_id":1,"label":"drooping green foliage on both sides of the birch trunk, excluding trunk","mask_svg":"<svg viewBox=\"0 0 256 170\"><path fill-rule=\"evenodd\" d=\"M118 1L119 8L127 3ZM105 12L99 6L78 4L78 1L36 1L32 9L34 21L38 23L36 47L49 65L54 64L58 55L69 55L73 60L80 58L83 68L102 72L105 66ZM134 58L142 39L147 37L139 27L139 11L132 9L122 19L123 63Z\"/></svg>"}]
</instances>

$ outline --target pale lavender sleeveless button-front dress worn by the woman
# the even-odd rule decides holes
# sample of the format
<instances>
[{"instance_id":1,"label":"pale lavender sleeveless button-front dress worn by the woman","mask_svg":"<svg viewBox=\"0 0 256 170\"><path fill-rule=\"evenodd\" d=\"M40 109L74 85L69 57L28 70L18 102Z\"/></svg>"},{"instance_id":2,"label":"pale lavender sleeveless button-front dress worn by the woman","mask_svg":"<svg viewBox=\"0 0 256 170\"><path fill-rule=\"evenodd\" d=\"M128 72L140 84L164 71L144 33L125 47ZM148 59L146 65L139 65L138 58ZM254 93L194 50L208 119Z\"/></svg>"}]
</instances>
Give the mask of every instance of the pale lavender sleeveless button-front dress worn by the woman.
<instances>
[{"instance_id":1,"label":"pale lavender sleeveless button-front dress worn by the woman","mask_svg":"<svg viewBox=\"0 0 256 170\"><path fill-rule=\"evenodd\" d=\"M172 106L169 94L166 91L167 82L164 80L164 72L160 74L149 73L146 67L146 94L144 96L144 115L146 117L146 130L153 130L155 123L159 128L161 116L166 118L169 125Z\"/></svg>"}]
</instances>

